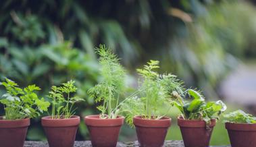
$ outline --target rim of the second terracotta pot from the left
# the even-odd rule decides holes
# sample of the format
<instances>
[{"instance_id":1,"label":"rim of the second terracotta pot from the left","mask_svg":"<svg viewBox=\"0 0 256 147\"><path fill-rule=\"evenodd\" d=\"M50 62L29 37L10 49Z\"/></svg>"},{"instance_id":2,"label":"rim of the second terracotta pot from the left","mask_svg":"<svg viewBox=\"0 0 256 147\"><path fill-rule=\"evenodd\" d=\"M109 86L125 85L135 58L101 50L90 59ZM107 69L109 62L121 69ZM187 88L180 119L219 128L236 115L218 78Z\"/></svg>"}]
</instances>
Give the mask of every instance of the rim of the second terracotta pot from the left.
<instances>
[{"instance_id":1,"label":"rim of the second terracotta pot from the left","mask_svg":"<svg viewBox=\"0 0 256 147\"><path fill-rule=\"evenodd\" d=\"M43 127L71 127L78 126L80 117L72 115L70 119L51 119L51 116L42 117L41 123Z\"/></svg>"}]
</instances>

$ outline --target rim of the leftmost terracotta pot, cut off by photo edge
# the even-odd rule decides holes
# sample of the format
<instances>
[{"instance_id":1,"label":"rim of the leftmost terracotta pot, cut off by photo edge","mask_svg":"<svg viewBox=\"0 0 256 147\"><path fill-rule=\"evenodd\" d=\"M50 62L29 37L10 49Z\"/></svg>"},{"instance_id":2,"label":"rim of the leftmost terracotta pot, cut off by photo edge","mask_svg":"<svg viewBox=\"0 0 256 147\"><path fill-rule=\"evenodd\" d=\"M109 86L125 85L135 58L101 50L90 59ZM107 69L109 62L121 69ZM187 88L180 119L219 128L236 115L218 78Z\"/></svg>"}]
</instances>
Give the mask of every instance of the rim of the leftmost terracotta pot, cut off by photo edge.
<instances>
[{"instance_id":1,"label":"rim of the leftmost terracotta pot, cut off by photo edge","mask_svg":"<svg viewBox=\"0 0 256 147\"><path fill-rule=\"evenodd\" d=\"M6 120L3 116L0 117L0 128L28 127L29 125L30 118Z\"/></svg>"}]
</instances>

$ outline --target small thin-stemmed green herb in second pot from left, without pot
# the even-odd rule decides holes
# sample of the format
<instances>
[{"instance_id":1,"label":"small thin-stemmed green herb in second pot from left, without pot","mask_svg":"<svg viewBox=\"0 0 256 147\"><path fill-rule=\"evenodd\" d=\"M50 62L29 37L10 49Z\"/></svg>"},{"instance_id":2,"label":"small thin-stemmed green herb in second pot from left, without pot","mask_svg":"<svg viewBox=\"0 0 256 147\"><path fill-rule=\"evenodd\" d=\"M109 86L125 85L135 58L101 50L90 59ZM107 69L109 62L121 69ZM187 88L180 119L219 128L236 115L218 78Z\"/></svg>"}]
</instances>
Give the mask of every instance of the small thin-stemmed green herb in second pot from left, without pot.
<instances>
[{"instance_id":1,"label":"small thin-stemmed green herb in second pot from left, without pot","mask_svg":"<svg viewBox=\"0 0 256 147\"><path fill-rule=\"evenodd\" d=\"M52 119L69 119L74 115L74 103L82 98L71 96L76 92L75 81L70 80L63 83L62 86L52 86L49 92L49 98L52 99L51 118Z\"/></svg>"}]
</instances>

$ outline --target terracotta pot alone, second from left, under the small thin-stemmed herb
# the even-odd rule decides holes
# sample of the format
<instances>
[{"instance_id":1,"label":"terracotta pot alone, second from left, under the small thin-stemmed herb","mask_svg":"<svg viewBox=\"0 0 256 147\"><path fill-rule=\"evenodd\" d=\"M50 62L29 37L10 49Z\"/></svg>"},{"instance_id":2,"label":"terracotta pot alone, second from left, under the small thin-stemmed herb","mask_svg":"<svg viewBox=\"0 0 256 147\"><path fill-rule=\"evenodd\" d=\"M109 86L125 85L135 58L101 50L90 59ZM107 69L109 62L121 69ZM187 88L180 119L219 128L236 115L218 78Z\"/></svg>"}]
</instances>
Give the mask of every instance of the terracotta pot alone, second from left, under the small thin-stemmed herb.
<instances>
[{"instance_id":1,"label":"terracotta pot alone, second from left, under the small thin-stemmed herb","mask_svg":"<svg viewBox=\"0 0 256 147\"><path fill-rule=\"evenodd\" d=\"M42 125L50 147L73 147L80 117L72 116L70 119L42 118Z\"/></svg>"}]
</instances>

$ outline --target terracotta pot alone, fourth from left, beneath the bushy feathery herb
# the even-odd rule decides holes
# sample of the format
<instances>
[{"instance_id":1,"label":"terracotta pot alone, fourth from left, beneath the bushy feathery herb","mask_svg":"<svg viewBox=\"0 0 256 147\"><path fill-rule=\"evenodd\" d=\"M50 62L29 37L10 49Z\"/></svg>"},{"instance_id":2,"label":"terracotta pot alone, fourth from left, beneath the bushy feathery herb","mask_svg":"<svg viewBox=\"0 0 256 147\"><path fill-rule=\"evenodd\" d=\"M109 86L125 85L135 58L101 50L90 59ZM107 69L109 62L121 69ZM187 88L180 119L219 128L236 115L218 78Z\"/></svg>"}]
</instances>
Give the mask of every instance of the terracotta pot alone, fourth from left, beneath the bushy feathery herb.
<instances>
[{"instance_id":1,"label":"terracotta pot alone, fourth from left, beneath the bushy feathery herb","mask_svg":"<svg viewBox=\"0 0 256 147\"><path fill-rule=\"evenodd\" d=\"M140 116L133 118L136 127L138 145L141 147L161 147L164 144L168 128L172 119L163 117L162 119L142 119Z\"/></svg>"}]
</instances>

